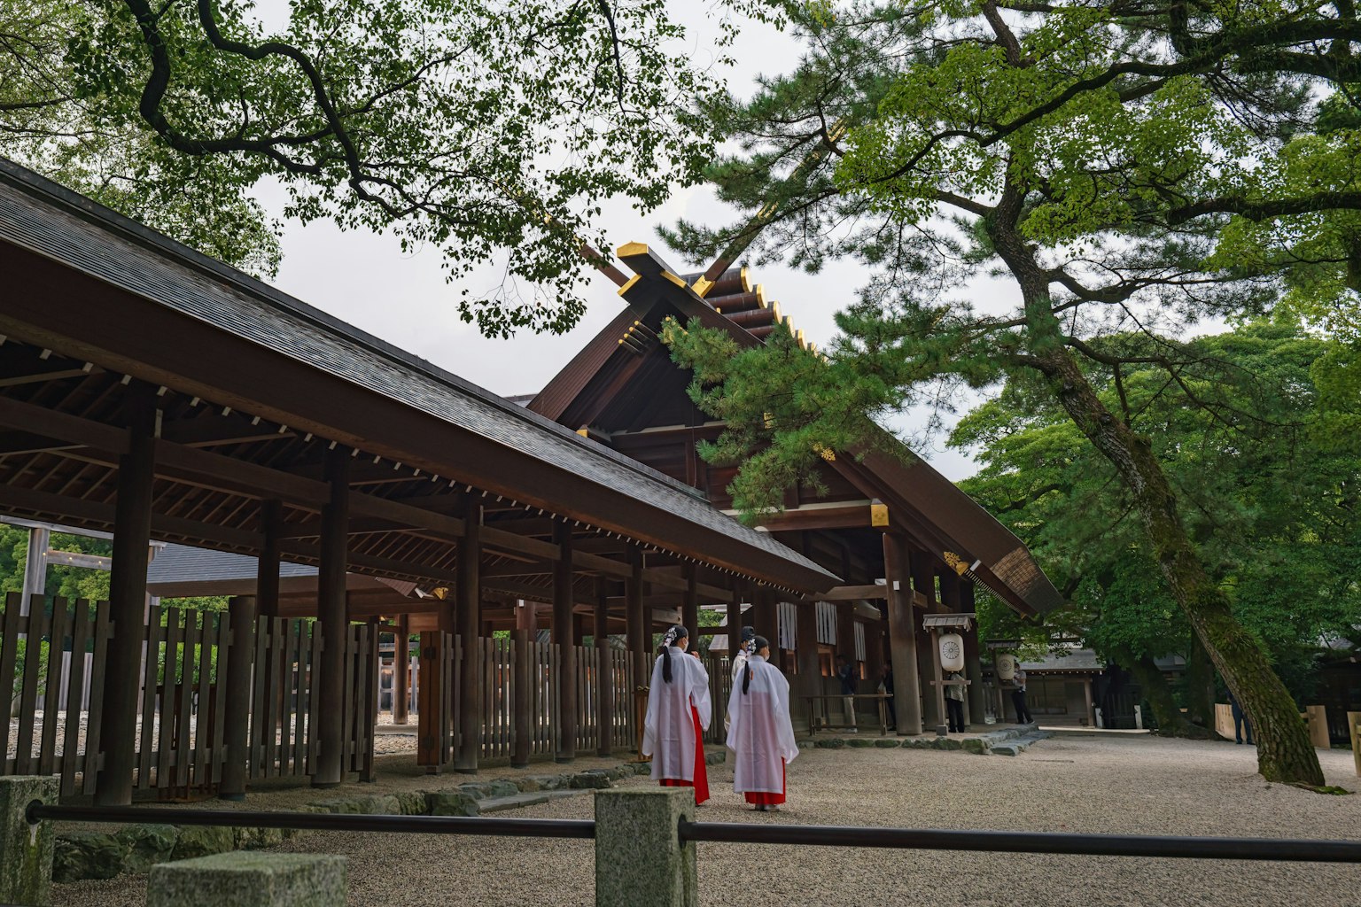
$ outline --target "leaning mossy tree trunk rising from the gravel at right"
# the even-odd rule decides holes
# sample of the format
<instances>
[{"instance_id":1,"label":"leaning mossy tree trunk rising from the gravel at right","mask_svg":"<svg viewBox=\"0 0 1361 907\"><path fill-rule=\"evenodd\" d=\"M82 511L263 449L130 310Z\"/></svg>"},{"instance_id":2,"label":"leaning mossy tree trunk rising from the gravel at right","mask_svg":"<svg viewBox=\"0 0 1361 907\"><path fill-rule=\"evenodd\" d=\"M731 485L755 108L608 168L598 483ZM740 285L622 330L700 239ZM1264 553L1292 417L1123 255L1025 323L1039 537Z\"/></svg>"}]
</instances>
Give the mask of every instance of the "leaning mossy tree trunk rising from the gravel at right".
<instances>
[{"instance_id":1,"label":"leaning mossy tree trunk rising from the gravel at right","mask_svg":"<svg viewBox=\"0 0 1361 907\"><path fill-rule=\"evenodd\" d=\"M1049 277L1015 228L1022 201L1023 193L1009 186L989 220L994 247L1019 283L1025 305L1023 341L1029 356L1018 359L1048 378L1078 430L1124 479L1173 598L1252 722L1258 771L1267 781L1322 786L1323 770L1300 710L1258 640L1233 616L1228 596L1206 574L1181 524L1162 464L1147 439L1101 401L1064 345L1063 326L1049 299Z\"/></svg>"}]
</instances>

